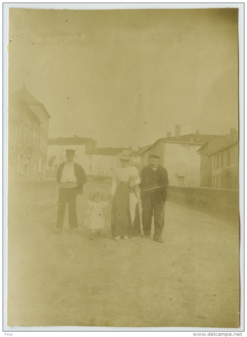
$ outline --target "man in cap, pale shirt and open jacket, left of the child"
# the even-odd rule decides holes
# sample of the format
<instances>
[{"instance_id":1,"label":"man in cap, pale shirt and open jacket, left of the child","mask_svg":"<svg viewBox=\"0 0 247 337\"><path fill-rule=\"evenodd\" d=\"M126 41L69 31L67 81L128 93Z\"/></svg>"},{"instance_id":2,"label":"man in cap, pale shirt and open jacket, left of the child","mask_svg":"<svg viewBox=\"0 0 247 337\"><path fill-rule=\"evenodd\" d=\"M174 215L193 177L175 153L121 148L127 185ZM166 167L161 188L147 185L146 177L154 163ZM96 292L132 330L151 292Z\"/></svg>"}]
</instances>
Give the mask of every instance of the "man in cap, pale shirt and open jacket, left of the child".
<instances>
[{"instance_id":1,"label":"man in cap, pale shirt and open jacket, left of the child","mask_svg":"<svg viewBox=\"0 0 247 337\"><path fill-rule=\"evenodd\" d=\"M58 166L57 182L60 184L58 190L58 213L56 234L62 234L64 213L69 205L69 234L74 233L74 228L78 227L76 214L76 197L83 194L83 185L87 182L87 177L81 165L74 162L73 149L66 149L67 161Z\"/></svg>"}]
</instances>

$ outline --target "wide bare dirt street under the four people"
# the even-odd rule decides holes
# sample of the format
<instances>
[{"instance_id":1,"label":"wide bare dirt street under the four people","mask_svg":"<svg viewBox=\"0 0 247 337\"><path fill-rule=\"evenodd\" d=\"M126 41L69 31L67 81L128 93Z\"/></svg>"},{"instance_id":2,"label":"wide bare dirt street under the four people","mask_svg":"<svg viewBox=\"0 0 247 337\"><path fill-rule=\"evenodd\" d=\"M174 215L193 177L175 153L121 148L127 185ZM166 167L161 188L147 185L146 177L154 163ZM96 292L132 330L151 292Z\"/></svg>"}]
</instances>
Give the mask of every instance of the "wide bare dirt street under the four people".
<instances>
[{"instance_id":1,"label":"wide bare dirt street under the four people","mask_svg":"<svg viewBox=\"0 0 247 337\"><path fill-rule=\"evenodd\" d=\"M110 206L102 237L89 240L92 186L111 188L85 184L73 235L67 210L62 235L54 234L58 186L49 198L10 206L9 326L238 327L236 226L166 202L164 243L114 241Z\"/></svg>"}]
</instances>

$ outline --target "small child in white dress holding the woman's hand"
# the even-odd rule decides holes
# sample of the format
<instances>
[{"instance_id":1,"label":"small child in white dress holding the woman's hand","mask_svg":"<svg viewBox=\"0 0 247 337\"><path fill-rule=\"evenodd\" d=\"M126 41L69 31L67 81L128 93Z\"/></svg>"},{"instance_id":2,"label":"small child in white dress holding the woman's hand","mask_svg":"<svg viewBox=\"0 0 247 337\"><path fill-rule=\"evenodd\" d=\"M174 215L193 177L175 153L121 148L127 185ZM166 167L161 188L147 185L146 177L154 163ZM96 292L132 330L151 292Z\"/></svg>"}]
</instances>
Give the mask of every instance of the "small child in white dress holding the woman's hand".
<instances>
[{"instance_id":1,"label":"small child in white dress holding the woman's hand","mask_svg":"<svg viewBox=\"0 0 247 337\"><path fill-rule=\"evenodd\" d=\"M103 213L103 208L110 205L110 201L102 200L102 192L98 191L93 194L88 201L87 219L85 221L85 226L91 229L90 239L93 240L96 236L99 238L101 236L101 229L105 226L105 218ZM92 193L91 193L92 194Z\"/></svg>"}]
</instances>

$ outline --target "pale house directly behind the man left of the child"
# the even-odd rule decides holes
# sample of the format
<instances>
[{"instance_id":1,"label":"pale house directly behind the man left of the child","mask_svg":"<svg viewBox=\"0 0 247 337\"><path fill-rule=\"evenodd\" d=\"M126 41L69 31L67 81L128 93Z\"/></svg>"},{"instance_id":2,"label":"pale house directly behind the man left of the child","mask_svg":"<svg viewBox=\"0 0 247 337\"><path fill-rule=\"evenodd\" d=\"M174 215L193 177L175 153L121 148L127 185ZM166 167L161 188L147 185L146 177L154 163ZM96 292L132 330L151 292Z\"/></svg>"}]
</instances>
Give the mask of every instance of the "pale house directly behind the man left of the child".
<instances>
[{"instance_id":1,"label":"pale house directly behind the man left of the child","mask_svg":"<svg viewBox=\"0 0 247 337\"><path fill-rule=\"evenodd\" d=\"M97 142L92 138L78 137L76 134L73 137L50 138L47 146L47 178L55 178L58 165L66 161L65 150L74 149L74 161L82 165L86 174L88 157L85 154L87 151L97 146Z\"/></svg>"}]
</instances>

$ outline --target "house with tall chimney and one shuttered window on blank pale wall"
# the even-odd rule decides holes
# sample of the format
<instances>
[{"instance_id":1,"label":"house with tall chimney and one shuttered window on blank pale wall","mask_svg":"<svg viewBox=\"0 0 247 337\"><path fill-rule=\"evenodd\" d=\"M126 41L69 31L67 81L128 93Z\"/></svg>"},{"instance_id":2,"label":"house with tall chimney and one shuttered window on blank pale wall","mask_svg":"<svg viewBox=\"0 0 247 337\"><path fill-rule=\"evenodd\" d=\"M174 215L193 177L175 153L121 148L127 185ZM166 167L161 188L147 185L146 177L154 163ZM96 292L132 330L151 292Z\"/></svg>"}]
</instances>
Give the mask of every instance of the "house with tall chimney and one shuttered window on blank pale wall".
<instances>
[{"instance_id":1,"label":"house with tall chimney and one shuttered window on blank pale wall","mask_svg":"<svg viewBox=\"0 0 247 337\"><path fill-rule=\"evenodd\" d=\"M170 185L200 186L200 159L197 150L205 143L223 136L199 134L199 131L185 135L180 133L180 125L176 125L175 137L167 132L166 138L158 139L143 151L141 167L149 163L149 154L155 151L161 156L160 164L167 169Z\"/></svg>"}]
</instances>

